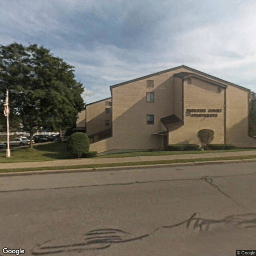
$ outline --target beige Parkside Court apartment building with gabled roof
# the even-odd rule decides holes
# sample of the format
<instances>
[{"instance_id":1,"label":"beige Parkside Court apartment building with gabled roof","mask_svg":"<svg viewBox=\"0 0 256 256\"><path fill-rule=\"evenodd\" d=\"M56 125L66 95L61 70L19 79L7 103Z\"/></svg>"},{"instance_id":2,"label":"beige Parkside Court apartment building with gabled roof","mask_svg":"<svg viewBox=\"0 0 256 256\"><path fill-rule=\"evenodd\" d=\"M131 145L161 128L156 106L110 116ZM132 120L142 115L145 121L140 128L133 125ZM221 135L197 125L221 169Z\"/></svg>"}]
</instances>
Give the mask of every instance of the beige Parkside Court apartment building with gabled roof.
<instances>
[{"instance_id":1,"label":"beige Parkside Court apartment building with gabled roof","mask_svg":"<svg viewBox=\"0 0 256 256\"><path fill-rule=\"evenodd\" d=\"M256 147L256 139L248 136L250 90L242 86L182 65L110 86L110 91L111 98L86 105L85 121L78 119L86 122L91 151L200 144L200 129L214 130L212 143ZM104 129L111 132L97 136Z\"/></svg>"}]
</instances>

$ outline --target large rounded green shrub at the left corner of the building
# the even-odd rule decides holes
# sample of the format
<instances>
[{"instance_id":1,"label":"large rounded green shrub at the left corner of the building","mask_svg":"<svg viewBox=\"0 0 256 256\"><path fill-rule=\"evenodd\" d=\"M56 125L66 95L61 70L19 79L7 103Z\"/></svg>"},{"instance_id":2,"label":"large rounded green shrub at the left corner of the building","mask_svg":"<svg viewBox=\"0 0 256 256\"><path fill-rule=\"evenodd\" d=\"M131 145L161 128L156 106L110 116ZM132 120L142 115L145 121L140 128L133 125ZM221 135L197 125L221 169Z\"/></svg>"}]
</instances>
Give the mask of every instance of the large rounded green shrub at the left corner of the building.
<instances>
[{"instance_id":1,"label":"large rounded green shrub at the left corner of the building","mask_svg":"<svg viewBox=\"0 0 256 256\"><path fill-rule=\"evenodd\" d=\"M82 157L89 151L89 138L82 132L73 133L67 141L67 150L74 158Z\"/></svg>"}]
</instances>

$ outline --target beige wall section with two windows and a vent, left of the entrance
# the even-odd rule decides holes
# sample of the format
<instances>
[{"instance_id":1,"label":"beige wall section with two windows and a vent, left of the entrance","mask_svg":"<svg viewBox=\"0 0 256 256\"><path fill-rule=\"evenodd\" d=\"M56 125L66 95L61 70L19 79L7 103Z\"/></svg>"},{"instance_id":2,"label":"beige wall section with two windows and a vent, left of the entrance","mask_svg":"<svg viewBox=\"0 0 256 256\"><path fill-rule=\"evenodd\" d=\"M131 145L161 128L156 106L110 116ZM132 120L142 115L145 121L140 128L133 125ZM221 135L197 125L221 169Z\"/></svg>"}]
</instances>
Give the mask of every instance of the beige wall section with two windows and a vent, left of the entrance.
<instances>
[{"instance_id":1,"label":"beige wall section with two windows and a vent, left of the entrance","mask_svg":"<svg viewBox=\"0 0 256 256\"><path fill-rule=\"evenodd\" d=\"M163 130L160 118L174 112L173 74L159 74L112 89L115 144L111 149L163 148L163 137L152 134ZM147 88L147 80L154 80L154 88ZM146 102L146 92L154 92L154 103ZM146 124L147 114L154 114L154 125Z\"/></svg>"}]
</instances>

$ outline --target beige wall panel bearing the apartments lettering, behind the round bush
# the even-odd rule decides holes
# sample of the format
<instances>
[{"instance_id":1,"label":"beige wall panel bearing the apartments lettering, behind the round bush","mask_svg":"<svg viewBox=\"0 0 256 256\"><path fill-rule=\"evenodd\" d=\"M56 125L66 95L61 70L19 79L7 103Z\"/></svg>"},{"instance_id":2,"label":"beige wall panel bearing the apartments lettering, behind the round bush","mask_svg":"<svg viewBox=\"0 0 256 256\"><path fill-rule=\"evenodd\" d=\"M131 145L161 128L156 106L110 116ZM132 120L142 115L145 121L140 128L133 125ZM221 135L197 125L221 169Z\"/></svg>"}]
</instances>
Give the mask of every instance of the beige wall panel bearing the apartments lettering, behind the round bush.
<instances>
[{"instance_id":1,"label":"beige wall panel bearing the apartments lettering, behind the round bush","mask_svg":"<svg viewBox=\"0 0 256 256\"><path fill-rule=\"evenodd\" d=\"M191 78L184 81L184 112L186 109L221 109L218 117L191 117L184 113L184 126L169 132L169 144L200 144L197 133L201 129L214 130L212 143L224 143L224 90L208 82ZM192 114L203 114L202 112Z\"/></svg>"}]
</instances>

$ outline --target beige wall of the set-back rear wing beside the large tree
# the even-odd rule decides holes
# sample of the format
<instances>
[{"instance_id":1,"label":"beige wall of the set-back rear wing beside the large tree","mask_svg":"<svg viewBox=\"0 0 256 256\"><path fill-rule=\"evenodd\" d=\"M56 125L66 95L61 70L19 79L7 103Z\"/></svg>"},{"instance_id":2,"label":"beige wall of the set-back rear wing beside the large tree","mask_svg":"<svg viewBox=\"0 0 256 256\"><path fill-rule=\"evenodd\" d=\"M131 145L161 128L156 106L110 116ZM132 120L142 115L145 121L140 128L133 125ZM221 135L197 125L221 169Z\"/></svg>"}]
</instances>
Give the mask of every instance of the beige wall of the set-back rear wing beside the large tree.
<instances>
[{"instance_id":1,"label":"beige wall of the set-back rear wing beside the large tree","mask_svg":"<svg viewBox=\"0 0 256 256\"><path fill-rule=\"evenodd\" d=\"M111 128L112 107L107 105L111 98L86 105L86 134L101 132ZM105 114L105 108L110 108L110 114ZM105 120L110 120L110 126L105 126Z\"/></svg>"}]
</instances>

